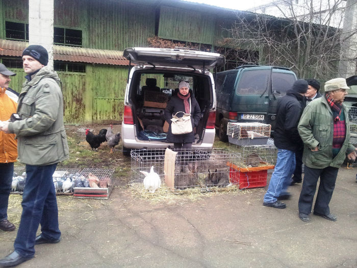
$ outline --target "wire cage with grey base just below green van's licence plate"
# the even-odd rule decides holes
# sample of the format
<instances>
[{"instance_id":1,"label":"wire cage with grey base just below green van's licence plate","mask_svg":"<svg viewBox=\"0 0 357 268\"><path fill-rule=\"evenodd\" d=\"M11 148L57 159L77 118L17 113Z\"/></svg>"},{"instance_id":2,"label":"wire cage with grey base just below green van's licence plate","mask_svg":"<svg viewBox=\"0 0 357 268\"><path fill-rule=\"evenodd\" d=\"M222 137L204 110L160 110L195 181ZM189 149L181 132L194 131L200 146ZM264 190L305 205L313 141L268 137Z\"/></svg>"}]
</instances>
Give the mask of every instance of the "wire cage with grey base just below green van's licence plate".
<instances>
[{"instance_id":1,"label":"wire cage with grey base just below green van's licence plate","mask_svg":"<svg viewBox=\"0 0 357 268\"><path fill-rule=\"evenodd\" d=\"M262 145L270 138L271 125L258 122L228 122L227 136L236 145Z\"/></svg>"}]
</instances>

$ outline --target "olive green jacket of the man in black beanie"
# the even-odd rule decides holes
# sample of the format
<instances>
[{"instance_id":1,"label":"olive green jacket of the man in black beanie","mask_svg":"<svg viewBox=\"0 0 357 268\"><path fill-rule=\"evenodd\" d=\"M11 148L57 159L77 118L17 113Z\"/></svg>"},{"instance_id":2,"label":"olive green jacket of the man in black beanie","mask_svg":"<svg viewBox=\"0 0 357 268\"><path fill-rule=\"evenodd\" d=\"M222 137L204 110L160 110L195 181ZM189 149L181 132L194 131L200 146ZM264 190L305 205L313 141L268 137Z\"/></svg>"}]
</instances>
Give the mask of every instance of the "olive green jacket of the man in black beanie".
<instances>
[{"instance_id":1,"label":"olive green jacket of the man in black beanie","mask_svg":"<svg viewBox=\"0 0 357 268\"><path fill-rule=\"evenodd\" d=\"M22 85L17 106L21 119L9 123L9 131L16 134L21 163L50 165L68 158L59 83L57 73L45 66Z\"/></svg>"}]
</instances>

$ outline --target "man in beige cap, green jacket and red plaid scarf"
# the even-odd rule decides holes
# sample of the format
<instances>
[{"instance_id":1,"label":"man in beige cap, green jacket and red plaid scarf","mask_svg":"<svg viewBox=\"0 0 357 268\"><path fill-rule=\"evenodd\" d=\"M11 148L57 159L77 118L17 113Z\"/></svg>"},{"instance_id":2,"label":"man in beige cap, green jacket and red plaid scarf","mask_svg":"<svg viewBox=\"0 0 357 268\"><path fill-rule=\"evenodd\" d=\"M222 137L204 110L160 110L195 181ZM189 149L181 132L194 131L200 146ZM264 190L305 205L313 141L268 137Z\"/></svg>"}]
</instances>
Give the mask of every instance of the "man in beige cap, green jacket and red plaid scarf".
<instances>
[{"instance_id":1,"label":"man in beige cap, green jacket and red plaid scarf","mask_svg":"<svg viewBox=\"0 0 357 268\"><path fill-rule=\"evenodd\" d=\"M334 192L339 167L346 158L355 160L356 152L349 143L348 110L343 104L347 89L344 78L325 83L323 96L311 102L303 111L298 131L304 143L302 161L304 179L299 198L299 217L310 222L310 212L320 177L314 214L330 221L337 217L328 204Z\"/></svg>"}]
</instances>

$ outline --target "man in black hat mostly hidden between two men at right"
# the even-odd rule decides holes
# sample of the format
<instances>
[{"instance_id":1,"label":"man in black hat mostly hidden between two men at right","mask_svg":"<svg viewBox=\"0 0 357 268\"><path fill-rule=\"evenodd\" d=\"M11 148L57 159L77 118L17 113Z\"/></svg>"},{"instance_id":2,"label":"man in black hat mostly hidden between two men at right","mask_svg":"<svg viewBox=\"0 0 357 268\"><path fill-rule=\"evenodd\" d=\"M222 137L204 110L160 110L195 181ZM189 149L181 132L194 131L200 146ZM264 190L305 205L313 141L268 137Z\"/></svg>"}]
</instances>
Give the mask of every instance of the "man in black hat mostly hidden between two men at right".
<instances>
[{"instance_id":1,"label":"man in black hat mostly hidden between two men at right","mask_svg":"<svg viewBox=\"0 0 357 268\"><path fill-rule=\"evenodd\" d=\"M309 86L308 86L308 91L305 93L306 99L306 105L308 105L311 101L318 99L321 97L321 94L319 92L320 90L320 82L317 81L316 79L305 79ZM304 105L305 107L305 105ZM295 152L295 160L296 160L296 166L295 166L295 171L294 171L294 176L291 178L291 183L290 185L294 185L295 183L301 183L302 182L302 152L303 152L303 147L298 148L297 151Z\"/></svg>"}]
</instances>

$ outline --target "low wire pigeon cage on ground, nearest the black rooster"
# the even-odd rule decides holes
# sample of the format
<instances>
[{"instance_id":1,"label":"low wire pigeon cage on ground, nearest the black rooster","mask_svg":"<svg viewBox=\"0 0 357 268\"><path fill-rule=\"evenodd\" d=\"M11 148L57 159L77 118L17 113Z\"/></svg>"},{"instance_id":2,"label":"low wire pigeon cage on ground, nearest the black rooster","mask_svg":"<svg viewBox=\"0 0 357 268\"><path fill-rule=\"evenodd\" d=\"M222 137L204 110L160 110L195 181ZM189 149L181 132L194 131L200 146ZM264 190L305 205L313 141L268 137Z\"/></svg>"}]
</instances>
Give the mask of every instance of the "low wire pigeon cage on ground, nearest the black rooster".
<instances>
[{"instance_id":1,"label":"low wire pigeon cage on ground, nearest the black rooster","mask_svg":"<svg viewBox=\"0 0 357 268\"><path fill-rule=\"evenodd\" d=\"M112 191L111 168L84 168L75 178L73 196L80 199L108 199Z\"/></svg>"}]
</instances>

